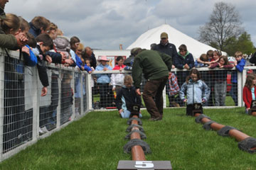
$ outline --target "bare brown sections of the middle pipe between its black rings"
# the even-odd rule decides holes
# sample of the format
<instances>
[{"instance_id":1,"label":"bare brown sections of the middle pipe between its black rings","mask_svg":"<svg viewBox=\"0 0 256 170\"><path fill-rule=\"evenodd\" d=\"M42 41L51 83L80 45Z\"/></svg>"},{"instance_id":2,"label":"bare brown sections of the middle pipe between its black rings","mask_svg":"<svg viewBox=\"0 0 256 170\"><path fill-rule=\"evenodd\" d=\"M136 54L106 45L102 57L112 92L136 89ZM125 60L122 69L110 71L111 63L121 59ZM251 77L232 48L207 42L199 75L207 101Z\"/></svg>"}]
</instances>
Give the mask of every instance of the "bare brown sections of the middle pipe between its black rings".
<instances>
[{"instance_id":1,"label":"bare brown sections of the middle pipe between its black rings","mask_svg":"<svg viewBox=\"0 0 256 170\"><path fill-rule=\"evenodd\" d=\"M138 118L137 115L132 116L132 118ZM132 120L132 125L138 125L138 121L137 120ZM139 130L139 128L134 127L132 128L132 130ZM131 140L133 139L141 139L139 133L137 132L133 132L131 134ZM140 145L135 145L134 147L132 147L132 160L133 161L146 161L145 158L145 154L144 151L142 149L142 147Z\"/></svg>"}]
</instances>

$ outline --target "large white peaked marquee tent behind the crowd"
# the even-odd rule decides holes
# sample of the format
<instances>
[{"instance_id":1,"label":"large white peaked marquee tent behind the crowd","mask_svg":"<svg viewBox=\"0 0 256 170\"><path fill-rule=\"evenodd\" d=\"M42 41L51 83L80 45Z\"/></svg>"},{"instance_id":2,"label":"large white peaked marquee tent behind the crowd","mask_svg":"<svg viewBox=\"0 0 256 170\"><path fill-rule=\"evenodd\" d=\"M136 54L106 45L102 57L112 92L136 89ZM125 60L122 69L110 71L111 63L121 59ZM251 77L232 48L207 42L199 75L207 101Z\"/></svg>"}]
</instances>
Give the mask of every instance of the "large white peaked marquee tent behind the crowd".
<instances>
[{"instance_id":1,"label":"large white peaked marquee tent behind the crowd","mask_svg":"<svg viewBox=\"0 0 256 170\"><path fill-rule=\"evenodd\" d=\"M188 48L188 52L191 52L194 58L200 57L201 54L206 53L208 50L215 50L215 48L203 44L167 24L146 31L146 33L140 35L132 45L129 45L127 50L131 50L134 47L141 47L149 50L152 43L159 44L160 35L163 32L168 34L169 42L176 46L177 52L178 47L181 44L185 44ZM223 52L223 55L226 55L226 53Z\"/></svg>"}]
</instances>

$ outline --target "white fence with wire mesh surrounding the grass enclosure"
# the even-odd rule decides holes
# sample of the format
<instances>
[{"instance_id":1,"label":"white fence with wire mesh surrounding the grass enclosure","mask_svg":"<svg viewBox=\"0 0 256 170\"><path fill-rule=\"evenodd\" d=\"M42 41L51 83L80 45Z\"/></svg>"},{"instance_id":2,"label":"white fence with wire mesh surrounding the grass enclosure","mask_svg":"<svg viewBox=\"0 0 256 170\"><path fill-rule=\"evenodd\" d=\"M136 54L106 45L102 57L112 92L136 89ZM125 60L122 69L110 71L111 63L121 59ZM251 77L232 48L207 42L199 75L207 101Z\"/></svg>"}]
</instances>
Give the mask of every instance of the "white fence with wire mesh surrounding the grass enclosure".
<instances>
[{"instance_id":1,"label":"white fence with wire mesh surrounding the grass enclosure","mask_svg":"<svg viewBox=\"0 0 256 170\"><path fill-rule=\"evenodd\" d=\"M110 76L120 74L119 71L87 74L75 68L50 64L48 94L41 97L43 86L38 79L36 67L24 66L23 61L18 57L18 52L10 51L9 54L11 58L0 49L0 161L32 145L38 139L60 130L92 109L106 110L115 107L112 86L97 84L93 78L97 77L97 74ZM242 73L238 72L238 84L235 88L238 97L237 106L243 106L242 87L248 69L254 71L256 67L245 67ZM198 68L198 70L202 74L202 79L208 84L214 84L213 75L215 72L220 72L219 69ZM186 78L187 71L174 69L172 72L176 73L181 86L181 79ZM231 69L220 74L227 77L228 74L236 72L235 69ZM131 73L123 71L121 74ZM230 86L229 83L227 82L226 86ZM142 91L144 84L145 80L142 81ZM168 88L163 94L166 98L164 107L168 108ZM230 101L232 100L230 98ZM208 104L208 106L214 106L214 102L213 105ZM235 103L228 103L227 106L235 106Z\"/></svg>"}]
</instances>

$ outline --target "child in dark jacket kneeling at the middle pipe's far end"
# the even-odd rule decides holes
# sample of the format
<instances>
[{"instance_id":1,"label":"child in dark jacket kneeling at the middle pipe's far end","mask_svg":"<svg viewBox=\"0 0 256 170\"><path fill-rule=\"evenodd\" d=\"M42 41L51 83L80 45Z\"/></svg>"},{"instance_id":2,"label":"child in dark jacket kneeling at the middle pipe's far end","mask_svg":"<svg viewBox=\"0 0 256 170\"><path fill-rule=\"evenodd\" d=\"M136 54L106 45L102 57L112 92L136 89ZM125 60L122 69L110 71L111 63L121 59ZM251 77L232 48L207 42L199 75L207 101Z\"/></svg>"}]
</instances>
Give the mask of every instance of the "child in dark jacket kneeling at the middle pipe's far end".
<instances>
[{"instance_id":1,"label":"child in dark jacket kneeling at the middle pipe's far end","mask_svg":"<svg viewBox=\"0 0 256 170\"><path fill-rule=\"evenodd\" d=\"M127 75L124 77L124 86L117 93L116 106L121 118L129 118L132 111L132 105L142 105L142 98L137 96L136 89L132 86L132 77ZM142 118L142 114L139 113Z\"/></svg>"}]
</instances>

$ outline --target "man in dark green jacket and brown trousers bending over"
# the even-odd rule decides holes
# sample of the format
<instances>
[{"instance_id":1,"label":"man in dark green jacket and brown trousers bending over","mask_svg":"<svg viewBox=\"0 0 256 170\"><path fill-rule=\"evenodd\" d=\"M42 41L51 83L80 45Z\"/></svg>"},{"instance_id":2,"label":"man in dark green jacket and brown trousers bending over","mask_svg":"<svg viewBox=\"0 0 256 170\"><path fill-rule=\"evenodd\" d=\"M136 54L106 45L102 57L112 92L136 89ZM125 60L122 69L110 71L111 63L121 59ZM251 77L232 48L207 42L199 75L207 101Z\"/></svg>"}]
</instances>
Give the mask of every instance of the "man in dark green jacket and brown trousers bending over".
<instances>
[{"instance_id":1,"label":"man in dark green jacket and brown trousers bending over","mask_svg":"<svg viewBox=\"0 0 256 170\"><path fill-rule=\"evenodd\" d=\"M171 72L172 61L169 55L154 50L138 48L134 52L132 78L138 95L142 82L142 73L146 79L143 99L146 110L151 115L149 120L161 120L163 117L163 90ZM154 101L155 98L155 101Z\"/></svg>"}]
</instances>

